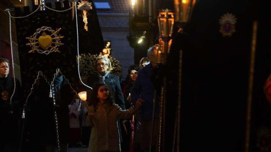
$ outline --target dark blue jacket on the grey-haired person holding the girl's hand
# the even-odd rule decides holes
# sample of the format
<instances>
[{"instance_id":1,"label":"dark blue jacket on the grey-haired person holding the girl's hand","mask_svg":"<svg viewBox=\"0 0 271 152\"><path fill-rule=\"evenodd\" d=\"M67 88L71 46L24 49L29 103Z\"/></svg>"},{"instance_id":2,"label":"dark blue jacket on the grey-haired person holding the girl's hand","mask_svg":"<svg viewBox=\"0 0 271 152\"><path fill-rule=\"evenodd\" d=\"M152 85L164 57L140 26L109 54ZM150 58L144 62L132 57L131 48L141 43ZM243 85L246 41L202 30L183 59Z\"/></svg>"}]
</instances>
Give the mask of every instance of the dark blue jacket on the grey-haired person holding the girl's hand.
<instances>
[{"instance_id":1,"label":"dark blue jacket on the grey-haired person holding the girl's hand","mask_svg":"<svg viewBox=\"0 0 271 152\"><path fill-rule=\"evenodd\" d=\"M139 98L145 101L140 109L141 120L152 119L153 97L155 90L152 80L153 75L155 75L155 71L151 64L146 65L138 71L137 79L134 86L131 88L131 99L134 105ZM158 102L159 96L156 95L154 118L158 118Z\"/></svg>"}]
</instances>

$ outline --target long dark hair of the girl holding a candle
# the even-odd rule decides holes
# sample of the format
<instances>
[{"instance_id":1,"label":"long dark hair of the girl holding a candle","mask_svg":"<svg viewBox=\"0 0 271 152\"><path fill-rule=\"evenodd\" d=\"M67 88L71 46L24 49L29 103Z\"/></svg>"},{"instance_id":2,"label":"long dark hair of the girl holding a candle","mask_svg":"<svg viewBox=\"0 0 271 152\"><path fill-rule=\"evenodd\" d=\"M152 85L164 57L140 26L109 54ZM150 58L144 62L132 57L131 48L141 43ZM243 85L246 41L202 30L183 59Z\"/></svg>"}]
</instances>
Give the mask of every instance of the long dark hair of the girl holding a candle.
<instances>
[{"instance_id":1,"label":"long dark hair of the girl holding a candle","mask_svg":"<svg viewBox=\"0 0 271 152\"><path fill-rule=\"evenodd\" d=\"M99 88L100 88L101 86L105 86L105 88L107 88L107 90L108 90L108 92L109 92L109 97L108 97L108 99L107 99L107 102L110 104L110 106L112 106L113 103L115 103L110 88L109 88L106 84L98 83L98 84L96 84L95 87L93 88L93 90L92 90L92 92L91 92L90 100L89 100L89 103L88 103L89 106L92 106L92 105L93 105L94 111L96 111L96 109L97 109L97 107L98 107L98 103L100 102L99 99L97 98L97 94L98 94Z\"/></svg>"}]
</instances>

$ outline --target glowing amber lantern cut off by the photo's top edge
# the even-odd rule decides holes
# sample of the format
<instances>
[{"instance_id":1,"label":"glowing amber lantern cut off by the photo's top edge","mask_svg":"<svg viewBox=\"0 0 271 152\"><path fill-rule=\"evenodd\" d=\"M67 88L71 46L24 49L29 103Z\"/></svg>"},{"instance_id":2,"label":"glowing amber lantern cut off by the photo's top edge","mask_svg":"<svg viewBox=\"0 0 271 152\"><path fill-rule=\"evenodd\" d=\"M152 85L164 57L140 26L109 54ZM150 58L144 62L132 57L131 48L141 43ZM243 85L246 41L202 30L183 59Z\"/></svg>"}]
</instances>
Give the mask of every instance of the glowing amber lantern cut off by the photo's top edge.
<instances>
[{"instance_id":1,"label":"glowing amber lantern cut off by the photo's top edge","mask_svg":"<svg viewBox=\"0 0 271 152\"><path fill-rule=\"evenodd\" d=\"M196 0L174 0L175 21L189 22Z\"/></svg>"}]
</instances>

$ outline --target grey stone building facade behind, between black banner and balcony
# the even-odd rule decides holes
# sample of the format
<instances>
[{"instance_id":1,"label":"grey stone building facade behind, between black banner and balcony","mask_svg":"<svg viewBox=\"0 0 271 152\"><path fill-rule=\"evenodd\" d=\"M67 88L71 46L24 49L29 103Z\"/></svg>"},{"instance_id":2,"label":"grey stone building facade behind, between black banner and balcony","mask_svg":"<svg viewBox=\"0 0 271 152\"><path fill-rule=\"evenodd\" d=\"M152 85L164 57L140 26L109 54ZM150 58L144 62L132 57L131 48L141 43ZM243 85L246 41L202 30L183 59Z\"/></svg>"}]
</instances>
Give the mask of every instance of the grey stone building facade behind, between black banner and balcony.
<instances>
[{"instance_id":1,"label":"grey stone building facade behind, between black banner and balcony","mask_svg":"<svg viewBox=\"0 0 271 152\"><path fill-rule=\"evenodd\" d=\"M127 41L129 34L129 1L108 0L110 9L96 7L99 24L104 41L111 41L112 56L120 61L123 67L122 80L127 76L128 67L134 64L134 49Z\"/></svg>"}]
</instances>

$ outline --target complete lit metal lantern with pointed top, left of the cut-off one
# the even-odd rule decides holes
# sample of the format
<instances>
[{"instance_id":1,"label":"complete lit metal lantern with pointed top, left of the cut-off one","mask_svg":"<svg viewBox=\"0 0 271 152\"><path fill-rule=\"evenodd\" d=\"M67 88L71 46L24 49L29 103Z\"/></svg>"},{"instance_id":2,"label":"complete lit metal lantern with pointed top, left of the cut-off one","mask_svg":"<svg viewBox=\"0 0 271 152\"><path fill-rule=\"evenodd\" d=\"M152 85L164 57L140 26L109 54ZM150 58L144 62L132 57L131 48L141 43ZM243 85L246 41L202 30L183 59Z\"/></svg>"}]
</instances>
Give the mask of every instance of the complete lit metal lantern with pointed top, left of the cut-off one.
<instances>
[{"instance_id":1,"label":"complete lit metal lantern with pointed top, left of the cut-off one","mask_svg":"<svg viewBox=\"0 0 271 152\"><path fill-rule=\"evenodd\" d=\"M173 12L168 9L160 10L157 20L160 37L163 39L163 41L165 41L166 38L172 36L172 29L174 24Z\"/></svg>"}]
</instances>

